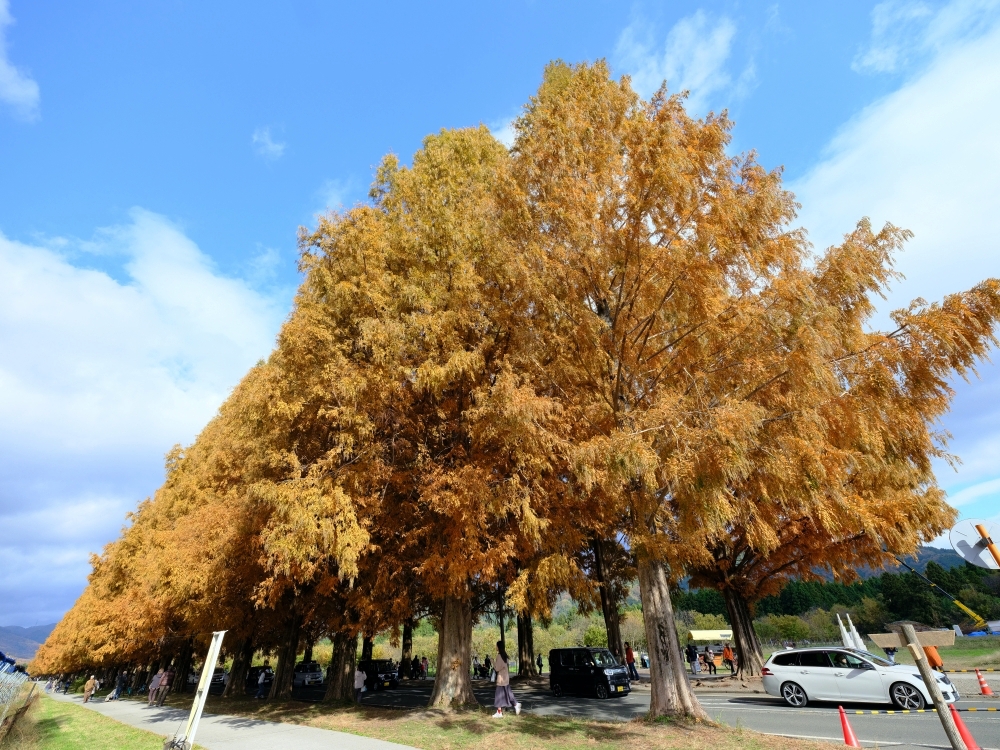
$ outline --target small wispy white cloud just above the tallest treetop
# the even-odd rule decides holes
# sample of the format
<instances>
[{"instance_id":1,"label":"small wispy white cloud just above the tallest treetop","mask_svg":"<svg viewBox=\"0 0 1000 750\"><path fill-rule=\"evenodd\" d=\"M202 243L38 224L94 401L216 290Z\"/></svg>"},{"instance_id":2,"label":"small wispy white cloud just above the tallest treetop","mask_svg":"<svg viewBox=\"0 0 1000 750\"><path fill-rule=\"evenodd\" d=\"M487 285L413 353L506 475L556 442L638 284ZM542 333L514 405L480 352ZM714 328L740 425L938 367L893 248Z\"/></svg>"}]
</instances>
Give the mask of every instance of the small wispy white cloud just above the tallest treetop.
<instances>
[{"instance_id":1,"label":"small wispy white cloud just above the tallest treetop","mask_svg":"<svg viewBox=\"0 0 1000 750\"><path fill-rule=\"evenodd\" d=\"M688 109L702 113L714 94L735 88L739 95L752 82L752 65L739 76L735 87L727 71L735 35L736 24L731 19L712 19L699 10L673 26L661 48L652 42L648 25L636 21L619 36L615 57L643 96L653 94L665 80L671 91L690 91Z\"/></svg>"}]
</instances>

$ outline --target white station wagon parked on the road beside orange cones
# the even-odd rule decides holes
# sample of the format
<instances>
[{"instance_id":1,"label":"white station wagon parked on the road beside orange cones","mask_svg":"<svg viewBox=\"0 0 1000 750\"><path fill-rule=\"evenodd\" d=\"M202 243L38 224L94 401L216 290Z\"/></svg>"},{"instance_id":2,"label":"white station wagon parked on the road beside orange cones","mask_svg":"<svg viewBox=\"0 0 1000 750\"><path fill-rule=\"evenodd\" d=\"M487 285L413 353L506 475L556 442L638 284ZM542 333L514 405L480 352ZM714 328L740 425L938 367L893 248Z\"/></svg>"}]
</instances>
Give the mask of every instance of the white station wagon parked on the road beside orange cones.
<instances>
[{"instance_id":1,"label":"white station wagon parked on the road beside orange cones","mask_svg":"<svg viewBox=\"0 0 1000 750\"><path fill-rule=\"evenodd\" d=\"M959 699L946 675L935 673L947 703ZM768 695L801 708L809 701L893 703L916 710L931 702L916 667L848 648L797 648L771 654L761 670Z\"/></svg>"}]
</instances>

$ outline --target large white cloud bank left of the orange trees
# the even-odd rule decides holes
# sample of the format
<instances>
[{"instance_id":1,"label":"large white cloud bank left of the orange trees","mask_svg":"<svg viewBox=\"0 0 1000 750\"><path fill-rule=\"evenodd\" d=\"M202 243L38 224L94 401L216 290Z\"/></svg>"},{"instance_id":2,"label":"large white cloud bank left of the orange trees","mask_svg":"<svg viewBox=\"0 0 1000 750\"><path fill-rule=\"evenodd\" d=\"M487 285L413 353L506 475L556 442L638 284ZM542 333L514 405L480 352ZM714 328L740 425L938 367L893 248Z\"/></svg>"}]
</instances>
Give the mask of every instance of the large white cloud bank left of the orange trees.
<instances>
[{"instance_id":1,"label":"large white cloud bank left of the orange trees","mask_svg":"<svg viewBox=\"0 0 1000 750\"><path fill-rule=\"evenodd\" d=\"M170 446L190 442L268 354L284 312L148 211L92 242L51 245L0 235L5 624L72 603L88 553L162 481ZM67 248L121 259L122 280Z\"/></svg>"}]
</instances>

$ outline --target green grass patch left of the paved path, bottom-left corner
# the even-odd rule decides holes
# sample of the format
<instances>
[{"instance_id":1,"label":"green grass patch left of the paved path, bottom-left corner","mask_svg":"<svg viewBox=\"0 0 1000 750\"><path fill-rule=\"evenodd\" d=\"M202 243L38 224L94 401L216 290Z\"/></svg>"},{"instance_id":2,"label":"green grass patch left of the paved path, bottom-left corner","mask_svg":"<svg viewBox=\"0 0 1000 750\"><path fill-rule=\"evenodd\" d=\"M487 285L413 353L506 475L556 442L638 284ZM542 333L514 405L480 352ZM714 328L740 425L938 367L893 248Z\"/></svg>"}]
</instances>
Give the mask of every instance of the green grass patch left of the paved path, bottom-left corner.
<instances>
[{"instance_id":1,"label":"green grass patch left of the paved path, bottom-left corner","mask_svg":"<svg viewBox=\"0 0 1000 750\"><path fill-rule=\"evenodd\" d=\"M163 737L40 696L0 746L3 750L161 750Z\"/></svg>"}]
</instances>

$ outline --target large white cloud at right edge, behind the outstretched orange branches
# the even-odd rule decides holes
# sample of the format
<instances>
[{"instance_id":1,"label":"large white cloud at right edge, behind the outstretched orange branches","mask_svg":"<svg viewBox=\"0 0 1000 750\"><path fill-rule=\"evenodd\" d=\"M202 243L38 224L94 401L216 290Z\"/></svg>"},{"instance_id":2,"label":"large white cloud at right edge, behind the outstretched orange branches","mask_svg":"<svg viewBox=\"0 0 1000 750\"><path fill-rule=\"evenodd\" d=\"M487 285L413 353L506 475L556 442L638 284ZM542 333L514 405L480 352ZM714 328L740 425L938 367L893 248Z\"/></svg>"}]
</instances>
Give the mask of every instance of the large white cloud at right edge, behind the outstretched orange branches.
<instances>
[{"instance_id":1,"label":"large white cloud at right edge, behind the outstretched orange branches","mask_svg":"<svg viewBox=\"0 0 1000 750\"><path fill-rule=\"evenodd\" d=\"M802 203L799 219L819 248L839 242L862 216L876 227L890 221L915 233L897 259L905 279L881 305L879 327L891 325L890 310L917 297L939 300L1000 277L1000 13L987 16L988 7L996 11L998 4L936 9L912 41L916 52L870 58L872 69L888 70L926 55L909 80L848 122L791 185ZM953 384L957 397L943 425L963 463L953 471L939 462L936 471L962 512L983 516L994 512L989 493L1000 481L1000 367L984 362L979 370L981 381Z\"/></svg>"}]
</instances>

